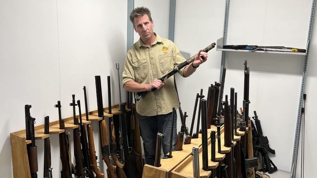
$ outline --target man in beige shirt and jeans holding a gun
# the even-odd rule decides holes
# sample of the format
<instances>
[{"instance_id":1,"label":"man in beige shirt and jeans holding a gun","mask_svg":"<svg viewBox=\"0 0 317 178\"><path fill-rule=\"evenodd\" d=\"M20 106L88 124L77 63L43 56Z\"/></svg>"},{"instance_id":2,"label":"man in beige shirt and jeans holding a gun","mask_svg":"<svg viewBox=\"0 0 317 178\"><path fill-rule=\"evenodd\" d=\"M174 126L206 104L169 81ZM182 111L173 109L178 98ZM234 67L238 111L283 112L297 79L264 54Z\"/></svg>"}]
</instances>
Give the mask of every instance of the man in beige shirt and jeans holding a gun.
<instances>
[{"instance_id":1,"label":"man in beige shirt and jeans holding a gun","mask_svg":"<svg viewBox=\"0 0 317 178\"><path fill-rule=\"evenodd\" d=\"M154 22L148 8L135 8L130 14L130 20L140 39L127 52L122 83L124 89L130 92L151 91L152 88L156 88L136 103L146 163L154 165L156 135L158 132L165 135L162 147L166 155L169 152L172 108L179 107L174 77L164 82L158 78L186 59L172 41L154 33ZM200 50L195 60L178 73L183 77L189 77L206 60L207 53ZM173 149L177 142L176 118L175 114Z\"/></svg>"}]
</instances>

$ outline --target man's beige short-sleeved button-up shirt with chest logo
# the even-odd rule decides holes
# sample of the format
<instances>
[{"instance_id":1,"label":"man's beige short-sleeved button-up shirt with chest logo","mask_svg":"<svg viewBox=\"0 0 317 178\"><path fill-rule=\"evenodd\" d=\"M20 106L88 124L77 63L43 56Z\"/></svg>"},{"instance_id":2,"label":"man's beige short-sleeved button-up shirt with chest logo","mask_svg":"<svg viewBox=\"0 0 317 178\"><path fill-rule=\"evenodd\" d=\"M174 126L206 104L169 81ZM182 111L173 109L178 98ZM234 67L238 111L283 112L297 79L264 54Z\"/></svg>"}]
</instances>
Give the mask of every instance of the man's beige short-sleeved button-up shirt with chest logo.
<instances>
[{"instance_id":1,"label":"man's beige short-sleeved button-up shirt with chest logo","mask_svg":"<svg viewBox=\"0 0 317 178\"><path fill-rule=\"evenodd\" d=\"M154 79L159 79L185 60L171 40L156 35L156 40L150 47L146 46L142 40L138 40L127 52L122 84L124 85L130 80L148 84ZM183 76L184 68L178 71L181 76ZM164 83L162 88L149 92L137 101L138 114L142 116L168 114L173 107L179 107L174 76L166 79Z\"/></svg>"}]
</instances>

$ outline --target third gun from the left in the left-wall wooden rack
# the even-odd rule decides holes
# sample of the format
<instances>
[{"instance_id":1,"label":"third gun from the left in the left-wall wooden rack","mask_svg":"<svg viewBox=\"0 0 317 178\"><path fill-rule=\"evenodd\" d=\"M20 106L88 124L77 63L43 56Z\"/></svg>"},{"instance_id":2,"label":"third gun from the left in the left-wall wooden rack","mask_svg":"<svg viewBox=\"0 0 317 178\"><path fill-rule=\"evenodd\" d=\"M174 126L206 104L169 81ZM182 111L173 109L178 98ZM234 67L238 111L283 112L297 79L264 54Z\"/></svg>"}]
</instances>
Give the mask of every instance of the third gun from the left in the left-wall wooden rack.
<instances>
[{"instance_id":1,"label":"third gun from the left in the left-wall wooden rack","mask_svg":"<svg viewBox=\"0 0 317 178\"><path fill-rule=\"evenodd\" d=\"M65 123L62 119L61 113L61 101L57 101L57 104L54 107L58 108L58 115L59 115L59 123L60 129L64 130L64 132L59 134L60 138L60 158L62 161L62 171L61 171L61 178L72 178L72 163L70 157L70 135L69 133L65 133Z\"/></svg>"}]
</instances>

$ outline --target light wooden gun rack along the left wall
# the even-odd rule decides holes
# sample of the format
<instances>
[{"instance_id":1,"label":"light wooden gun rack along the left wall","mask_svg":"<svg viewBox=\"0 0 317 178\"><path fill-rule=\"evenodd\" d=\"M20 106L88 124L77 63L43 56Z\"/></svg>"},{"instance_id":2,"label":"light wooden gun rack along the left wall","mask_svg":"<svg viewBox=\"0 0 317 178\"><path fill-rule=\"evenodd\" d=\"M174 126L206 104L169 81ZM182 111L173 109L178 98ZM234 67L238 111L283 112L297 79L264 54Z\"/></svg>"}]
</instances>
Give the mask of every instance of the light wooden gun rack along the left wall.
<instances>
[{"instance_id":1,"label":"light wooden gun rack along the left wall","mask_svg":"<svg viewBox=\"0 0 317 178\"><path fill-rule=\"evenodd\" d=\"M115 114L120 114L119 105L112 106L112 114L107 113L107 107L104 108L104 117L110 118ZM129 112L130 109L127 109ZM91 121L99 121L103 118L98 117L98 111L92 111L88 113L89 121L83 119L83 124L89 124ZM77 115L78 116L78 115ZM85 117L85 114L82 114L82 117ZM78 128L78 125L74 125L73 117L63 119L65 121L65 129L75 129ZM49 123L49 134L60 134L64 130L59 129L59 120L52 121ZM139 128L137 125L136 128ZM35 126L35 139L44 139L48 138L49 134L44 134L44 124ZM139 137L140 137L140 133ZM135 134L134 134L135 135ZM137 137L137 136L135 136ZM10 133L11 140L11 152L12 152L12 166L13 166L13 178L31 178L29 159L27 155L26 145L31 143L31 140L26 140L25 129L17 132ZM141 144L137 142L136 144ZM136 150L137 151L137 150ZM142 153L140 153L142 154Z\"/></svg>"}]
</instances>

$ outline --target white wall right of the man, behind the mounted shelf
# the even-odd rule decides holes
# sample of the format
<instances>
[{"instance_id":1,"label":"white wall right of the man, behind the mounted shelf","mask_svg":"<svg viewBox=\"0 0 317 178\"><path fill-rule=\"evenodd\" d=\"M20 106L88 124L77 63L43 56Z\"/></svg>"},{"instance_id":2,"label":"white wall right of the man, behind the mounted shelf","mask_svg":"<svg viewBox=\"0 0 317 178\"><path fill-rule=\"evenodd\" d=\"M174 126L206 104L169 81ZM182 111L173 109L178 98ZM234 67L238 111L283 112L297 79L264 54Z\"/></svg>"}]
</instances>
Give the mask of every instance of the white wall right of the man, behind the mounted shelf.
<instances>
[{"instance_id":1,"label":"white wall right of the man, behind the mounted shelf","mask_svg":"<svg viewBox=\"0 0 317 178\"><path fill-rule=\"evenodd\" d=\"M227 44L283 45L305 49L311 6L312 0L304 0L300 3L296 0L231 0ZM181 50L193 55L197 49L207 46L206 41L211 43L223 36L224 17L225 1L177 1L174 42ZM311 41L311 51L314 51L313 41ZM311 61L314 60L315 55L312 53L314 52L310 54L308 71L316 66L312 64L316 61ZM224 95L230 95L230 88L235 88L238 92L238 103L242 107L243 64L244 60L248 60L251 70L250 116L254 116L254 110L257 111L264 135L268 136L270 146L276 151L276 154L271 155L270 158L279 170L287 172L291 170L304 59L304 56L298 55L226 53L227 74ZM199 93L200 88L203 88L204 94L207 95L208 86L214 81L219 81L220 60L221 51L210 51L207 64L201 66L189 79L178 80L180 83L178 88L182 88L179 89L181 100L185 104L183 111L192 112L195 94ZM306 80L305 93L312 99L314 94L311 87L314 88L316 77L310 76L308 75ZM310 86L309 89L307 86ZM307 105L308 103L307 99ZM307 108L306 112L309 116L314 111L309 111ZM190 121L187 120L188 126ZM306 125L307 122L309 121L306 121ZM310 122L314 123L311 120ZM309 124L309 127L312 126L313 124ZM306 133L309 131L306 130ZM306 134L307 137L311 135L313 133ZM306 143L310 146L306 144L306 151L310 150L308 154L314 155L312 147L315 143L308 139L306 138ZM313 176L315 173L312 171L316 154L315 157L305 158L307 167L305 176L316 177ZM298 159L300 160L300 149ZM298 165L300 166L300 163ZM298 172L300 167L297 167Z\"/></svg>"}]
</instances>

